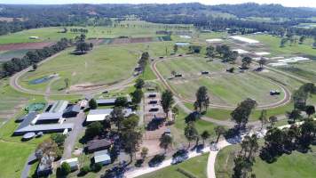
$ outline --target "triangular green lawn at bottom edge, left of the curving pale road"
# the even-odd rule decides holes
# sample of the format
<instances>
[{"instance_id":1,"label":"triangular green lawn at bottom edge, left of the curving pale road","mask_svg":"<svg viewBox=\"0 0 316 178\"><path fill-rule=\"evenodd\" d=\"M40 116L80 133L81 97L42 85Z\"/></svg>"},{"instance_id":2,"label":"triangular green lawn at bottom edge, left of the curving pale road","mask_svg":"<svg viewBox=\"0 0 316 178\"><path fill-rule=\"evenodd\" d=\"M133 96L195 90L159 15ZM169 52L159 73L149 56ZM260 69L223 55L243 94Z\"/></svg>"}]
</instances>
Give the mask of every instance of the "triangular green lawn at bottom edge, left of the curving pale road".
<instances>
[{"instance_id":1,"label":"triangular green lawn at bottom edge, left of the curving pale road","mask_svg":"<svg viewBox=\"0 0 316 178\"><path fill-rule=\"evenodd\" d=\"M185 174L178 172L178 168L185 170L190 174L194 174L197 178L206 178L207 177L207 164L208 164L209 154L203 154L196 158L191 158L186 162L180 163L175 166L168 166L162 168L161 170L155 171L150 174L145 174L138 176L138 178L183 178L186 177Z\"/></svg>"}]
</instances>

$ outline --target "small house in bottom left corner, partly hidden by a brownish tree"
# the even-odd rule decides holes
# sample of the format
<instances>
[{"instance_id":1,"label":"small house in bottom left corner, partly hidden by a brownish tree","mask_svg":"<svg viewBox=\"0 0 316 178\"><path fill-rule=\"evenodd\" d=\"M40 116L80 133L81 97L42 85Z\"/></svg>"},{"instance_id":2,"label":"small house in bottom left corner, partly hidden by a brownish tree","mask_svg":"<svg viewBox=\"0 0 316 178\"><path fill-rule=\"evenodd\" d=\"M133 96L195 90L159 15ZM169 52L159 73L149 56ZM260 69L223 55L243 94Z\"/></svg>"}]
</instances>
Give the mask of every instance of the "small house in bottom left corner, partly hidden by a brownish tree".
<instances>
[{"instance_id":1,"label":"small house in bottom left corner, partly hidden by a brownish tree","mask_svg":"<svg viewBox=\"0 0 316 178\"><path fill-rule=\"evenodd\" d=\"M42 177L42 176L48 176L49 174L51 174L53 161L54 161L53 157L44 155L37 166L37 169L36 169L37 176Z\"/></svg>"}]
</instances>

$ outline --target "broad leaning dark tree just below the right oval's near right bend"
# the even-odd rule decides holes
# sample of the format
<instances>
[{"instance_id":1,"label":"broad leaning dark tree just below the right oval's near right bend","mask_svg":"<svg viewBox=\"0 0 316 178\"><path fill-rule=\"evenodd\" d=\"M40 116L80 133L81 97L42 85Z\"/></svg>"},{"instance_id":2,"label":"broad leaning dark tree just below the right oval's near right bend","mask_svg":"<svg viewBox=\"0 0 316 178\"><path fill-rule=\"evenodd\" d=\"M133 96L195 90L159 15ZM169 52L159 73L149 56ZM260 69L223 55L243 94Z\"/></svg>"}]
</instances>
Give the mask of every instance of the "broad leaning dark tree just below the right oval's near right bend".
<instances>
[{"instance_id":1,"label":"broad leaning dark tree just below the right oval's near right bend","mask_svg":"<svg viewBox=\"0 0 316 178\"><path fill-rule=\"evenodd\" d=\"M238 104L237 108L231 113L232 120L236 122L239 128L244 127L248 121L252 109L257 106L257 101L246 99Z\"/></svg>"}]
</instances>

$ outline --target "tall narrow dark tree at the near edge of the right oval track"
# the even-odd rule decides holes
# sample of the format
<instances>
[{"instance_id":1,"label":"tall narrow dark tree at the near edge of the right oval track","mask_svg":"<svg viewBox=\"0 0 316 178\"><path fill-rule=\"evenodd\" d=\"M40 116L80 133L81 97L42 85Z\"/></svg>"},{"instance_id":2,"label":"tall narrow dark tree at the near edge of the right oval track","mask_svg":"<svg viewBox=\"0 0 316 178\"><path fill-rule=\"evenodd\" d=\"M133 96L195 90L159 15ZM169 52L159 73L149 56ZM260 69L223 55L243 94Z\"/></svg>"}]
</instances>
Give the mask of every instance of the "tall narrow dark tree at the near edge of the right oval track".
<instances>
[{"instance_id":1,"label":"tall narrow dark tree at the near edge of the right oval track","mask_svg":"<svg viewBox=\"0 0 316 178\"><path fill-rule=\"evenodd\" d=\"M196 101L194 102L194 107L199 109L205 109L206 111L209 108L209 95L208 89L205 86L201 86L198 91L195 93Z\"/></svg>"}]
</instances>

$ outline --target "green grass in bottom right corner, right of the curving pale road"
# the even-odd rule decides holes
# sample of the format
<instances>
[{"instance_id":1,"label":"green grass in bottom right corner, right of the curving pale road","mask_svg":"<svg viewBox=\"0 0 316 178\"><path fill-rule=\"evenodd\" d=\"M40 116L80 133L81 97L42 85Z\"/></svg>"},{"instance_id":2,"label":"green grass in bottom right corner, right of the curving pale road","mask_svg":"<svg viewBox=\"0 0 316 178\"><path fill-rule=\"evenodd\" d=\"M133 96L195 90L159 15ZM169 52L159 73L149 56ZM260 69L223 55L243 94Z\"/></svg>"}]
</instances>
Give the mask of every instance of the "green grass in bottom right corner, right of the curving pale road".
<instances>
[{"instance_id":1,"label":"green grass in bottom right corner, right of the curving pale road","mask_svg":"<svg viewBox=\"0 0 316 178\"><path fill-rule=\"evenodd\" d=\"M216 176L217 178L229 178L233 174L233 151L239 150L240 146L226 147L220 150L216 160ZM256 158L253 166L253 172L257 178L312 178L315 177L316 170L316 147L312 146L312 150L308 153L300 153L294 151L290 155L284 154L273 164L268 164L261 158Z\"/></svg>"}]
</instances>

